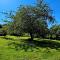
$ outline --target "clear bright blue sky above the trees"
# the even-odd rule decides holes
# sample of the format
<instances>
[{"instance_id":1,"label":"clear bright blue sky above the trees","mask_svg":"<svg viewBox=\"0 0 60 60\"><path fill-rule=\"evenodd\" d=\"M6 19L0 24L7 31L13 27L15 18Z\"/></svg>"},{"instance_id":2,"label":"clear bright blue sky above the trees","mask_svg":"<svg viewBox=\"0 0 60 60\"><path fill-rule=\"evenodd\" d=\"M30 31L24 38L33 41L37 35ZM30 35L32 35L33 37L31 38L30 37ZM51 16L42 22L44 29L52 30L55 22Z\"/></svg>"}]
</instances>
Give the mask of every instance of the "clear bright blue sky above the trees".
<instances>
[{"instance_id":1,"label":"clear bright blue sky above the trees","mask_svg":"<svg viewBox=\"0 0 60 60\"><path fill-rule=\"evenodd\" d=\"M60 0L45 0L51 9L56 19L56 23L60 24ZM0 0L0 12L16 11L20 5L34 4L35 0ZM0 24L6 19L5 15L0 13Z\"/></svg>"}]
</instances>

